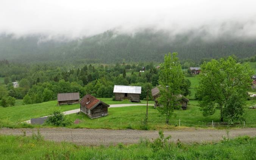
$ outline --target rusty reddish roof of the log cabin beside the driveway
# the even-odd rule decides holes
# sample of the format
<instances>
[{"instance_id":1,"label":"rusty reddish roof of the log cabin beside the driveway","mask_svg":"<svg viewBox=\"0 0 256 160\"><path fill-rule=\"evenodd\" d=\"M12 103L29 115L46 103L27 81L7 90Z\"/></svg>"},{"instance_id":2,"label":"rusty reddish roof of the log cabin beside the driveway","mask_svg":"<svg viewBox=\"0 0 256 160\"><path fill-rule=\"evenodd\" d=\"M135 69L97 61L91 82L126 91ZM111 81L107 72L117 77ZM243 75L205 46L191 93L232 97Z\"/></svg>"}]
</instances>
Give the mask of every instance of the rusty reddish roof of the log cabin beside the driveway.
<instances>
[{"instance_id":1,"label":"rusty reddish roof of the log cabin beside the driveway","mask_svg":"<svg viewBox=\"0 0 256 160\"><path fill-rule=\"evenodd\" d=\"M97 106L98 104L104 104L106 106L109 107L108 104L100 101L99 99L95 98L94 96L92 96L91 94L86 94L81 100L80 100L80 104L83 105L84 107L91 109L94 108L95 106Z\"/></svg>"}]
</instances>

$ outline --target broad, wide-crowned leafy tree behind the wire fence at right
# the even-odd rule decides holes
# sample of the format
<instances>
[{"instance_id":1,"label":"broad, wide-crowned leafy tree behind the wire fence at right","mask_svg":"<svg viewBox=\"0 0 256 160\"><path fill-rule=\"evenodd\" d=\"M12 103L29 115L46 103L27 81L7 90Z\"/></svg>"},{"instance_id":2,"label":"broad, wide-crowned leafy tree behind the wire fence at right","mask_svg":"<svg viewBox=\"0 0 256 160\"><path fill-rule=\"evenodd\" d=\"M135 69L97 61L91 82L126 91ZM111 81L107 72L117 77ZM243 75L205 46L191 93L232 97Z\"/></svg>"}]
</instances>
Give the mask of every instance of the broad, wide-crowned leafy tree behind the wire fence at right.
<instances>
[{"instance_id":1,"label":"broad, wide-crowned leafy tree behind the wire fence at right","mask_svg":"<svg viewBox=\"0 0 256 160\"><path fill-rule=\"evenodd\" d=\"M220 121L243 119L246 91L251 86L253 71L248 64L241 65L231 56L201 65L197 97L204 116L220 110Z\"/></svg>"}]
</instances>

